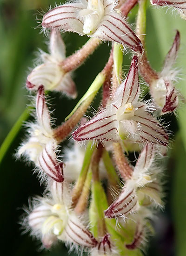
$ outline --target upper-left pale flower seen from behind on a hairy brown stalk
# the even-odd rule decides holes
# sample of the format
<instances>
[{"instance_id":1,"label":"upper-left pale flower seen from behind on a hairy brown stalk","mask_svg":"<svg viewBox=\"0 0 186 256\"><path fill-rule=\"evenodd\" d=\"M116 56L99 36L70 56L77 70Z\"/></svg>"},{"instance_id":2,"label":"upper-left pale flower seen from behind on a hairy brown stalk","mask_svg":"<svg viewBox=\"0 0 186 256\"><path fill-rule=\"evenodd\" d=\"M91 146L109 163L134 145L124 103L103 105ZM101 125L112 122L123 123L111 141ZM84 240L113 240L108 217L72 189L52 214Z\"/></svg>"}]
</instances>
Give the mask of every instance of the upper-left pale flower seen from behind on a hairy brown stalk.
<instances>
[{"instance_id":1,"label":"upper-left pale flower seen from behind on a hairy brown stalk","mask_svg":"<svg viewBox=\"0 0 186 256\"><path fill-rule=\"evenodd\" d=\"M60 32L53 29L50 34L49 52L41 53L43 64L35 67L27 77L27 89L37 90L40 85L45 90L60 91L66 95L76 98L77 92L70 73L65 73L60 63L66 58L65 44Z\"/></svg>"}]
</instances>

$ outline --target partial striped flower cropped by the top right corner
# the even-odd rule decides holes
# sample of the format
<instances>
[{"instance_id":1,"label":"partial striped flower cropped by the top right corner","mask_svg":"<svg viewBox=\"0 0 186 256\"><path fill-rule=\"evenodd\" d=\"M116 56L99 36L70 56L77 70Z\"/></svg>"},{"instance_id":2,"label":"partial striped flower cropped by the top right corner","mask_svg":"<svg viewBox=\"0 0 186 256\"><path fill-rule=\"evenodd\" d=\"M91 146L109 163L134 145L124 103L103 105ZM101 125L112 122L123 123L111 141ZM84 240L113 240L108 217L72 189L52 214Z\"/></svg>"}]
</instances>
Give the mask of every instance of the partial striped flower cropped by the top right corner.
<instances>
[{"instance_id":1,"label":"partial striped flower cropped by the top right corner","mask_svg":"<svg viewBox=\"0 0 186 256\"><path fill-rule=\"evenodd\" d=\"M151 0L153 5L170 6L179 10L182 18L186 19L186 1L183 0Z\"/></svg>"}]
</instances>

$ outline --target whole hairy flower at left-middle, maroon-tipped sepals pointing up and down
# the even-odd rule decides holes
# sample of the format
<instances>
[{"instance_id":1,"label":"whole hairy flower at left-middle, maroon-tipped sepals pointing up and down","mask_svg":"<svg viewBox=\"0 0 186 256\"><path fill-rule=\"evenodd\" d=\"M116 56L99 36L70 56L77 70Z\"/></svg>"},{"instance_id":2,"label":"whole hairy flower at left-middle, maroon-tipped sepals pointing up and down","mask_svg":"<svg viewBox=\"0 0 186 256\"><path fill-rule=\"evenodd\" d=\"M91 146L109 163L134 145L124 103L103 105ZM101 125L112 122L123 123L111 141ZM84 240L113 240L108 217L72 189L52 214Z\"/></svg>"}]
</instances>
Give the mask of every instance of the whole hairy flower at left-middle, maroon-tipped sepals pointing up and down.
<instances>
[{"instance_id":1,"label":"whole hairy flower at left-middle, maroon-tipped sepals pointing up and down","mask_svg":"<svg viewBox=\"0 0 186 256\"><path fill-rule=\"evenodd\" d=\"M57 141L53 137L51 118L46 106L44 86L40 86L36 96L36 123L27 125L29 138L18 150L48 176L57 182L63 181L62 163L57 160Z\"/></svg>"}]
</instances>

